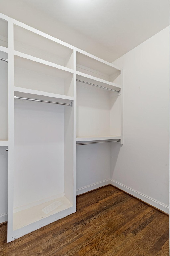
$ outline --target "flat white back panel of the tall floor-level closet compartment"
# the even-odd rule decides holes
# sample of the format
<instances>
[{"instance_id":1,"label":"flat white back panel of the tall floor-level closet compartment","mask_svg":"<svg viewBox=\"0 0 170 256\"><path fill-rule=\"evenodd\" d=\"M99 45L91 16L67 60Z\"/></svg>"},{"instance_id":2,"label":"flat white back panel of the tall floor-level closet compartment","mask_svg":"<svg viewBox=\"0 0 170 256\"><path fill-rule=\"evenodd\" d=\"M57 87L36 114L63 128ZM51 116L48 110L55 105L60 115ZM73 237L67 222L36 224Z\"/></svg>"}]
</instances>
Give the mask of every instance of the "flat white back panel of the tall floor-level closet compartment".
<instances>
[{"instance_id":1,"label":"flat white back panel of the tall floor-level closet compartment","mask_svg":"<svg viewBox=\"0 0 170 256\"><path fill-rule=\"evenodd\" d=\"M64 192L64 107L14 101L14 208Z\"/></svg>"}]
</instances>

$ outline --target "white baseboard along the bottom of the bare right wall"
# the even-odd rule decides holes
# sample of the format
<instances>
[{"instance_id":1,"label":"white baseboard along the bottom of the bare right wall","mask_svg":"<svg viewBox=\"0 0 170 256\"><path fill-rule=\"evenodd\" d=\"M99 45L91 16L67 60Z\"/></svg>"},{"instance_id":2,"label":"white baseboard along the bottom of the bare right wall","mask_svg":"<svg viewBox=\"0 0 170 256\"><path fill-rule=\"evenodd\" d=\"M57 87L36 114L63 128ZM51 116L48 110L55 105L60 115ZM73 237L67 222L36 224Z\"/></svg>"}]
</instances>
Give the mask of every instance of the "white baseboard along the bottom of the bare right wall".
<instances>
[{"instance_id":1,"label":"white baseboard along the bottom of the bare right wall","mask_svg":"<svg viewBox=\"0 0 170 256\"><path fill-rule=\"evenodd\" d=\"M143 195L143 194L131 189L130 187L126 187L117 181L113 181L112 179L110 180L110 184L113 185L114 187L117 187L118 189L125 191L126 193L128 193L130 195L133 195L134 197L138 198L139 200L142 200L142 201L152 205L153 207L169 214L169 206L168 205L164 205L163 203L160 203L151 197L147 197L146 195Z\"/></svg>"}]
</instances>

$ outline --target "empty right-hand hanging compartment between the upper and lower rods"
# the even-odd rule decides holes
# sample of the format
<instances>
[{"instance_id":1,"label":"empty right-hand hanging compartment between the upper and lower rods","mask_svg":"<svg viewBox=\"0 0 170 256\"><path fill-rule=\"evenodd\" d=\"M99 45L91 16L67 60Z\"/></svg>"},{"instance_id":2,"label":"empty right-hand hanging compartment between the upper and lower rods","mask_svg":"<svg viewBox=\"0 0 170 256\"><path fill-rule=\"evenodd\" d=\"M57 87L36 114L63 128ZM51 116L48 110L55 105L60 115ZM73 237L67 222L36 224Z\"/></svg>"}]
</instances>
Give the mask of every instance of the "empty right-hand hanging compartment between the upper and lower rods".
<instances>
[{"instance_id":1,"label":"empty right-hand hanging compartment between the upper and lower rods","mask_svg":"<svg viewBox=\"0 0 170 256\"><path fill-rule=\"evenodd\" d=\"M77 81L77 141L95 137L121 138L121 93Z\"/></svg>"}]
</instances>

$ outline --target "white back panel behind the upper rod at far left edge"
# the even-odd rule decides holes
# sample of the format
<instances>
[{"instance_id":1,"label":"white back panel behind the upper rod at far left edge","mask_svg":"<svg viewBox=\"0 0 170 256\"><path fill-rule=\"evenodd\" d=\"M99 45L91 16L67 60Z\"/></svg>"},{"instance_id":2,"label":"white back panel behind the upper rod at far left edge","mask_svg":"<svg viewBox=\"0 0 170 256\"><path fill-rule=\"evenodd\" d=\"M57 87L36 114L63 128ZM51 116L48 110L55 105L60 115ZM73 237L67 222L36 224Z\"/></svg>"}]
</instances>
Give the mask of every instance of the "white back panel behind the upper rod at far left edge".
<instances>
[{"instance_id":1,"label":"white back panel behind the upper rod at far left edge","mask_svg":"<svg viewBox=\"0 0 170 256\"><path fill-rule=\"evenodd\" d=\"M7 59L8 54L0 52ZM0 60L0 139L8 139L8 63Z\"/></svg>"}]
</instances>

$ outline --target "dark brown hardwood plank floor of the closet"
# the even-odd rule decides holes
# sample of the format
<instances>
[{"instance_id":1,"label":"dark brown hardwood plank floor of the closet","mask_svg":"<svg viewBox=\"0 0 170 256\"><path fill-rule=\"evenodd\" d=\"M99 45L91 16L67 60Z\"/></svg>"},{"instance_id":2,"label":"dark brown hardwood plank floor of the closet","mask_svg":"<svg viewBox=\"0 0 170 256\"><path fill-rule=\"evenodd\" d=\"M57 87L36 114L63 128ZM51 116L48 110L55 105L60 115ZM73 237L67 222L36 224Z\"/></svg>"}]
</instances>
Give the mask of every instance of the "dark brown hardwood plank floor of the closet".
<instances>
[{"instance_id":1,"label":"dark brown hardwood plank floor of the closet","mask_svg":"<svg viewBox=\"0 0 170 256\"><path fill-rule=\"evenodd\" d=\"M77 197L77 213L7 244L1 256L169 256L169 217L109 185Z\"/></svg>"}]
</instances>

